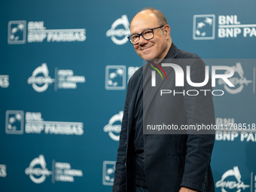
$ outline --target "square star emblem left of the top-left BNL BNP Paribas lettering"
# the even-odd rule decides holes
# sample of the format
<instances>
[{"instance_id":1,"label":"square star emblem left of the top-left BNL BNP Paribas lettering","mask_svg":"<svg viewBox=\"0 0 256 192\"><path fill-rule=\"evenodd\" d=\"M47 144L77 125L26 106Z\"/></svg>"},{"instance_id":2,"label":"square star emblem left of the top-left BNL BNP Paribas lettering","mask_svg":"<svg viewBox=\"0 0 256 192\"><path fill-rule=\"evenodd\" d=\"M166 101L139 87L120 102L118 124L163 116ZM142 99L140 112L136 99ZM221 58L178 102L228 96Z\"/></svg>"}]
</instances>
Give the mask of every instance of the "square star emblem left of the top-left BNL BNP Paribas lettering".
<instances>
[{"instance_id":1,"label":"square star emblem left of the top-left BNL BNP Paribas lettering","mask_svg":"<svg viewBox=\"0 0 256 192\"><path fill-rule=\"evenodd\" d=\"M8 23L8 44L26 43L26 20L11 20Z\"/></svg>"}]
</instances>

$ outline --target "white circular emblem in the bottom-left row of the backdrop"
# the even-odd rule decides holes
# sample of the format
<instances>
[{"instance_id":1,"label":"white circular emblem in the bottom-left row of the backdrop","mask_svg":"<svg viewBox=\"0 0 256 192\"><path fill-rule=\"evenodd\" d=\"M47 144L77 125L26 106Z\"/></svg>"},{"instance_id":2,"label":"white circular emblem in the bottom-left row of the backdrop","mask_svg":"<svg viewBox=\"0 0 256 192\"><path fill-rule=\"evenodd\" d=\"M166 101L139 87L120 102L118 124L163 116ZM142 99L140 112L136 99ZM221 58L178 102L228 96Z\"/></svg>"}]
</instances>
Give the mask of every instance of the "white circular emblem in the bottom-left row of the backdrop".
<instances>
[{"instance_id":1,"label":"white circular emblem in the bottom-left row of the backdrop","mask_svg":"<svg viewBox=\"0 0 256 192\"><path fill-rule=\"evenodd\" d=\"M32 160L29 167L26 168L25 173L36 184L44 182L46 176L51 175L51 172L46 168L44 155L41 154Z\"/></svg>"}]
</instances>

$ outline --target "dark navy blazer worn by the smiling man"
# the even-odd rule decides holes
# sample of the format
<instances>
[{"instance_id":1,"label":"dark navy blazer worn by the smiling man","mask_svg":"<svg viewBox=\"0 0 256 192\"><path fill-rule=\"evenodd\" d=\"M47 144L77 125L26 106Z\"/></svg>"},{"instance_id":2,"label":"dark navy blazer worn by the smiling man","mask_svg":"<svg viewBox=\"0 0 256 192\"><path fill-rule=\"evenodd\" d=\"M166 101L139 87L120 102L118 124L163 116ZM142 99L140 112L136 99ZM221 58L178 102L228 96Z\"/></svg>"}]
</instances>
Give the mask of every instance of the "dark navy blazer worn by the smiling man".
<instances>
[{"instance_id":1,"label":"dark navy blazer worn by the smiling man","mask_svg":"<svg viewBox=\"0 0 256 192\"><path fill-rule=\"evenodd\" d=\"M203 61L194 53L178 50L172 44L165 59L174 59L173 62L186 70L188 59L190 76L194 80L204 80L205 73L200 70L205 66ZM201 61L201 62L198 62ZM200 66L200 68L197 68ZM113 192L133 191L132 147L130 133L134 123L134 108L137 94L143 89L143 68L138 69L127 86L126 101L123 111L120 144L117 150L117 163L114 172ZM165 68L168 77L175 77L174 70ZM195 82L195 81L194 81ZM169 87L175 87L174 79L164 81ZM184 82L184 89L199 89ZM202 87L200 87L202 88ZM212 90L211 81L203 87ZM148 98L148 108L144 108L145 121L147 117L154 117L157 106L161 107L161 116L168 123L176 124L215 124L215 114L212 103L212 94L204 96L169 96L169 99L156 99L159 90ZM202 95L202 96L201 96ZM159 98L159 97L158 97ZM178 110L177 110L178 109ZM148 115L151 114L151 115ZM150 120L149 120L150 121ZM189 187L198 191L211 192L214 182L210 167L212 148L215 142L214 134L144 134L145 176L150 192L178 192L180 188Z\"/></svg>"}]
</instances>

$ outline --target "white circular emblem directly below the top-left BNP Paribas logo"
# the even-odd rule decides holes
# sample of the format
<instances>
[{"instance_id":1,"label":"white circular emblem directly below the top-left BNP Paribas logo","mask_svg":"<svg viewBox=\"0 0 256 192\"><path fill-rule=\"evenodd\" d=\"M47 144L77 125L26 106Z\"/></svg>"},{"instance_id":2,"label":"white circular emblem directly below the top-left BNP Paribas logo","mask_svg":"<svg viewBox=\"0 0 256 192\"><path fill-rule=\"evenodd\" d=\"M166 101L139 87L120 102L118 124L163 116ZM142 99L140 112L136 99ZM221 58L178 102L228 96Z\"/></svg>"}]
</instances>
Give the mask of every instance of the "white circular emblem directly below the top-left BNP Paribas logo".
<instances>
[{"instance_id":1,"label":"white circular emblem directly below the top-left BNP Paribas logo","mask_svg":"<svg viewBox=\"0 0 256 192\"><path fill-rule=\"evenodd\" d=\"M32 76L28 79L28 84L32 84L32 87L37 92L47 90L49 84L52 84L53 82L54 79L50 78L46 63L38 66L32 73Z\"/></svg>"}]
</instances>

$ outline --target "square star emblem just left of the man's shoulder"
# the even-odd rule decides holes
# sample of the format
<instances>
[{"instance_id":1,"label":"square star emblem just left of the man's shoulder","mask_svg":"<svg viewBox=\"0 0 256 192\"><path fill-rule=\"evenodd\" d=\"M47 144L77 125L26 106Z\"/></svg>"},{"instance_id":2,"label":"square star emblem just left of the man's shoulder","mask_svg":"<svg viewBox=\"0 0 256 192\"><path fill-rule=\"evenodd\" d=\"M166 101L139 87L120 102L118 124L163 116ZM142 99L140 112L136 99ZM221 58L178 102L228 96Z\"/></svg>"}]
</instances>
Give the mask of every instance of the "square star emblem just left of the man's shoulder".
<instances>
[{"instance_id":1,"label":"square star emblem just left of the man's shoulder","mask_svg":"<svg viewBox=\"0 0 256 192\"><path fill-rule=\"evenodd\" d=\"M106 66L105 89L125 90L126 88L126 66Z\"/></svg>"}]
</instances>

